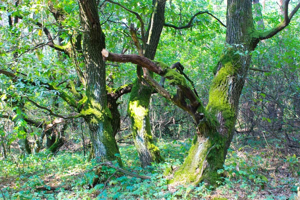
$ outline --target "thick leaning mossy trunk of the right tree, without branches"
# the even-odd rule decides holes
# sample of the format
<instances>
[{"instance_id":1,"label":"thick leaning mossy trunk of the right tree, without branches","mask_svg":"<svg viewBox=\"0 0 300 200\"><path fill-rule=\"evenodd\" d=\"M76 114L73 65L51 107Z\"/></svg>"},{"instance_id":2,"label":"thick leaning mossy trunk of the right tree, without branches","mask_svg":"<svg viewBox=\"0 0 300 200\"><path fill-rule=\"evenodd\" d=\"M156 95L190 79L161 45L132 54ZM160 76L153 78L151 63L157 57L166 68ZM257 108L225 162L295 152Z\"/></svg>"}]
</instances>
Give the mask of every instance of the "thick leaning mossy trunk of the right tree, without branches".
<instances>
[{"instance_id":1,"label":"thick leaning mossy trunk of the right tree, without branches","mask_svg":"<svg viewBox=\"0 0 300 200\"><path fill-rule=\"evenodd\" d=\"M233 136L238 100L249 67L250 55L246 52L257 44L251 36L252 28L251 0L228 0L226 43L231 46L215 67L204 112L206 120L196 121L193 144L171 181L215 184L218 180L217 170L223 166ZM235 53L237 50L244 54ZM211 120L207 119L209 115Z\"/></svg>"}]
</instances>

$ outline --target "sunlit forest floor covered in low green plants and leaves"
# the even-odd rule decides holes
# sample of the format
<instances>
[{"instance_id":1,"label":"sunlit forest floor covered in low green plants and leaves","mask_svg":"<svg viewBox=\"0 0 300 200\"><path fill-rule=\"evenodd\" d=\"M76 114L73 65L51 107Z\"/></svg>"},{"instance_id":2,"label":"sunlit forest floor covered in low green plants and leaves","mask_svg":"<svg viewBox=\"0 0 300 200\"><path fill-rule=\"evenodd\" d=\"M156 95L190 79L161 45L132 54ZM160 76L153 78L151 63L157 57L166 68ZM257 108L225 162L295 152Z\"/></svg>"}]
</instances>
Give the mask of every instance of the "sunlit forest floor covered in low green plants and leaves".
<instances>
[{"instance_id":1,"label":"sunlit forest floor covered in low green plants and leaves","mask_svg":"<svg viewBox=\"0 0 300 200\"><path fill-rule=\"evenodd\" d=\"M88 162L79 146L55 156L46 150L25 158L10 154L0 160L0 199L297 199L299 149L286 148L274 139L239 139L231 143L222 171L226 176L216 188L202 182L170 189L163 172L182 163L191 140L160 140L157 145L165 161L144 169L138 166L134 145L120 146L123 168L150 179L102 166L102 181L93 188L88 185L97 163ZM42 190L43 186L58 188Z\"/></svg>"}]
</instances>

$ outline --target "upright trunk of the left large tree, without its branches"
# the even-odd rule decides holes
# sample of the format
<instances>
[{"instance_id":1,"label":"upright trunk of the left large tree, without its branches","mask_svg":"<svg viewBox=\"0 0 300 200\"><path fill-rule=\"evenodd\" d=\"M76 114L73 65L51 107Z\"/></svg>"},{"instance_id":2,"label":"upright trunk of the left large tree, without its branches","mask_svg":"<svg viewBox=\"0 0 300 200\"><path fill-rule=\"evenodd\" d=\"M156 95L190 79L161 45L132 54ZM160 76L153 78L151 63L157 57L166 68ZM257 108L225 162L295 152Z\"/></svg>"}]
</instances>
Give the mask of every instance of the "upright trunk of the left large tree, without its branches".
<instances>
[{"instance_id":1,"label":"upright trunk of the left large tree, without its branches","mask_svg":"<svg viewBox=\"0 0 300 200\"><path fill-rule=\"evenodd\" d=\"M90 129L90 138L97 161L121 160L107 108L105 64L101 49L105 47L105 36L101 30L97 5L94 0L78 0L81 27L84 30L83 54L86 66L86 95L80 100L81 114Z\"/></svg>"}]
</instances>

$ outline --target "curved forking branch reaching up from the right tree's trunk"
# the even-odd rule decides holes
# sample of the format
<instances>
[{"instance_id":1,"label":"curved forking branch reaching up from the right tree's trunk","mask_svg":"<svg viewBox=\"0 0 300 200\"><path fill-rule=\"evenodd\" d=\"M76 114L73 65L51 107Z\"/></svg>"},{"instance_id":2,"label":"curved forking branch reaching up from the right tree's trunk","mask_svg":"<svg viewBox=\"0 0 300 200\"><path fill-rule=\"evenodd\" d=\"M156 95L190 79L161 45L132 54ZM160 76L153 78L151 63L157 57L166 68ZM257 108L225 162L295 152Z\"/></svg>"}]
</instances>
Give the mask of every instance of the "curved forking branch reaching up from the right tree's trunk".
<instances>
[{"instance_id":1,"label":"curved forking branch reaching up from the right tree's trunk","mask_svg":"<svg viewBox=\"0 0 300 200\"><path fill-rule=\"evenodd\" d=\"M277 34L278 32L280 32L283 28L285 28L291 18L293 17L293 15L298 11L298 9L300 8L300 2L293 8L293 10L290 12L290 14L288 14L288 3L290 0L285 0L284 1L284 19L274 28L264 31L264 32L258 32L258 36L257 38L259 40L263 40L263 39L268 39L271 38L272 36L274 36L275 34Z\"/></svg>"}]
</instances>

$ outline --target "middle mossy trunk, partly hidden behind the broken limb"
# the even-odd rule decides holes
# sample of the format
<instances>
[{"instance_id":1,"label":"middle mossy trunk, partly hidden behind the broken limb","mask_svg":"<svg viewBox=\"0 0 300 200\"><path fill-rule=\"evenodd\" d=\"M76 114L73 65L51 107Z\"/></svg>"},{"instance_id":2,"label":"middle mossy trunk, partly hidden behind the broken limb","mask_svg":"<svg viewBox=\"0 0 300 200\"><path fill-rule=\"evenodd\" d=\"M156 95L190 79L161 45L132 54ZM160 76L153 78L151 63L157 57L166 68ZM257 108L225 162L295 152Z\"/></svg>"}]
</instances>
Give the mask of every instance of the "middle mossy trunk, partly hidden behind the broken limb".
<instances>
[{"instance_id":1,"label":"middle mossy trunk, partly hidden behind the broken limb","mask_svg":"<svg viewBox=\"0 0 300 200\"><path fill-rule=\"evenodd\" d=\"M147 44L143 46L144 56L149 59L154 59L164 25L165 1L152 0L152 5L153 12L145 36ZM137 73L140 73L140 66L138 68ZM137 75L140 76L140 74ZM159 162L162 159L158 147L153 143L151 133L148 109L151 93L152 87L144 79L137 78L133 84L128 104L132 136L142 167L150 165L153 161Z\"/></svg>"}]
</instances>

